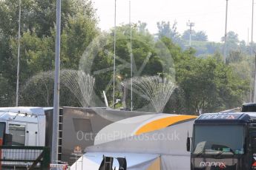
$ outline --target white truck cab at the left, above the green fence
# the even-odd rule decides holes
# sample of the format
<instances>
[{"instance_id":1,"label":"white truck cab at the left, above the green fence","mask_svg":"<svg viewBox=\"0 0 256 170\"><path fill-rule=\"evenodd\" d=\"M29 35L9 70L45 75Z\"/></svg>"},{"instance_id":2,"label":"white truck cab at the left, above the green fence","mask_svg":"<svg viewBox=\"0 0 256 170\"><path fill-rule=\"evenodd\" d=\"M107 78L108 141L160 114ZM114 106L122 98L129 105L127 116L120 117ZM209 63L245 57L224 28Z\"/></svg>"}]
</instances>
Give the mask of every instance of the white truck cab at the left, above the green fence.
<instances>
[{"instance_id":1,"label":"white truck cab at the left, above the green fence","mask_svg":"<svg viewBox=\"0 0 256 170\"><path fill-rule=\"evenodd\" d=\"M0 108L0 145L45 146L45 111L37 107Z\"/></svg>"}]
</instances>

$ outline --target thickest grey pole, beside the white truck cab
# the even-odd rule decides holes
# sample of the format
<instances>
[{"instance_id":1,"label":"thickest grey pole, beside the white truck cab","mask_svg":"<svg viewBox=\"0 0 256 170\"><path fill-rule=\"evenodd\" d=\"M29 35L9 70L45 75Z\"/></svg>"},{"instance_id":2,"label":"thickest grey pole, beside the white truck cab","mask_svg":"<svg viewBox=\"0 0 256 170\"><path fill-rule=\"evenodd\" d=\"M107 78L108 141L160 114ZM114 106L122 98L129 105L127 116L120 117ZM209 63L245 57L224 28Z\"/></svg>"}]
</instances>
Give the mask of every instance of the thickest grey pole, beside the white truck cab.
<instances>
[{"instance_id":1,"label":"thickest grey pole, beside the white truck cab","mask_svg":"<svg viewBox=\"0 0 256 170\"><path fill-rule=\"evenodd\" d=\"M58 138L59 138L59 67L60 67L60 25L61 25L61 3L56 1L56 43L55 43L55 78L54 78L54 101L53 101L53 134L51 162L58 161Z\"/></svg>"}]
</instances>

